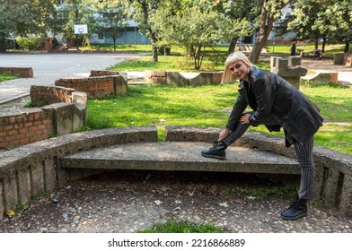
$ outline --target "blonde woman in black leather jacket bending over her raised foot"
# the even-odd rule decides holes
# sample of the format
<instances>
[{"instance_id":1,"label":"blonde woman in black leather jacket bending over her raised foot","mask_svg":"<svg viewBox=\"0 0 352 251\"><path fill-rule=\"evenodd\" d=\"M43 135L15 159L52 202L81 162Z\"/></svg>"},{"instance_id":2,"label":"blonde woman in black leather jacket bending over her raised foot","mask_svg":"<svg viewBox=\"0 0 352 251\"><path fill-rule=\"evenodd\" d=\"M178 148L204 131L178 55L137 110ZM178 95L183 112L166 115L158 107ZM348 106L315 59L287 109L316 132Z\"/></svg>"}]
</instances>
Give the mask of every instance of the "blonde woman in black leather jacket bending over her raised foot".
<instances>
[{"instance_id":1,"label":"blonde woman in black leather jacket bending over her raised foot","mask_svg":"<svg viewBox=\"0 0 352 251\"><path fill-rule=\"evenodd\" d=\"M285 220L296 220L307 215L307 200L312 196L315 176L312 160L314 134L322 125L320 109L289 82L277 74L260 70L247 56L237 51L225 61L222 82L240 80L238 98L218 143L201 152L207 158L225 159L226 148L245 133L250 125L266 125L270 132L286 135L286 146L295 146L296 158L302 175L295 201L284 211ZM245 112L247 107L252 111Z\"/></svg>"}]
</instances>

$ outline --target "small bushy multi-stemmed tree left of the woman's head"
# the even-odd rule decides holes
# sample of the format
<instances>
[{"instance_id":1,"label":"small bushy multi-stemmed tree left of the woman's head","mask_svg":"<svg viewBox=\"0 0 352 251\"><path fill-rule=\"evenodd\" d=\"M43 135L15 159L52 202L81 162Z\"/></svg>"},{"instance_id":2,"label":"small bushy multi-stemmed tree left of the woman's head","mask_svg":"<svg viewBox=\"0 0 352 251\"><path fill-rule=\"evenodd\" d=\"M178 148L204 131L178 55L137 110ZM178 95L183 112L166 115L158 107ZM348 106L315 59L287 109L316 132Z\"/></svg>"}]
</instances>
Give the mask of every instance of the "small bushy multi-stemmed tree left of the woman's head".
<instances>
[{"instance_id":1,"label":"small bushy multi-stemmed tree left of the woman's head","mask_svg":"<svg viewBox=\"0 0 352 251\"><path fill-rule=\"evenodd\" d=\"M194 68L199 70L205 49L216 42L229 40L233 34L241 34L246 22L233 22L224 13L218 13L214 1L164 2L151 21L158 34L159 45L178 45L193 58Z\"/></svg>"}]
</instances>

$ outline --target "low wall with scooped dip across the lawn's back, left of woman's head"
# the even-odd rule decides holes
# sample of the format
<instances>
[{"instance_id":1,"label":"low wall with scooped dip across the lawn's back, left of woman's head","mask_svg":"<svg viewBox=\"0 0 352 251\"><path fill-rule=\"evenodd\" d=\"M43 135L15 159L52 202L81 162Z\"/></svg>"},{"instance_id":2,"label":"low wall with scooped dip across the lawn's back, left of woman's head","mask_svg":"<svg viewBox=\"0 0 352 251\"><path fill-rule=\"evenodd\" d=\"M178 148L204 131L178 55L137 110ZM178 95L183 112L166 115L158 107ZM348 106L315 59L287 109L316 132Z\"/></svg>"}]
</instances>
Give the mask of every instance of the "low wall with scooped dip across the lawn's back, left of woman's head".
<instances>
[{"instance_id":1,"label":"low wall with scooped dip across the lawn's back, left of woman's head","mask_svg":"<svg viewBox=\"0 0 352 251\"><path fill-rule=\"evenodd\" d=\"M179 72L145 71L147 81L175 86L201 86L208 83L220 83L222 77L222 72L203 72L193 78L186 78Z\"/></svg>"}]
</instances>

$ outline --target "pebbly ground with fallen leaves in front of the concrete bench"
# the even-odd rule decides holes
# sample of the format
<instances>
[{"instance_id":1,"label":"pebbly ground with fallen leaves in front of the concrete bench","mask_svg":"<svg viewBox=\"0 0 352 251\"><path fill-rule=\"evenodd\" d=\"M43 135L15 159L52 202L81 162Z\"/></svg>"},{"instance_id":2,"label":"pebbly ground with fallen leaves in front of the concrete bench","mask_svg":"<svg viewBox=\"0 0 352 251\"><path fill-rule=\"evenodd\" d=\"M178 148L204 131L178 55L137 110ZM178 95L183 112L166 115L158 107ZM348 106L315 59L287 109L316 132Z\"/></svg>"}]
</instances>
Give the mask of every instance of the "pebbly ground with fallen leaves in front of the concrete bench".
<instances>
[{"instance_id":1,"label":"pebbly ground with fallen leaves in front of the concrete bench","mask_svg":"<svg viewBox=\"0 0 352 251\"><path fill-rule=\"evenodd\" d=\"M309 205L307 217L284 221L289 198L244 191L274 186L224 173L119 171L67 183L0 221L0 232L136 233L157 222L210 222L224 233L351 233L352 218ZM275 186L279 186L275 184Z\"/></svg>"}]
</instances>

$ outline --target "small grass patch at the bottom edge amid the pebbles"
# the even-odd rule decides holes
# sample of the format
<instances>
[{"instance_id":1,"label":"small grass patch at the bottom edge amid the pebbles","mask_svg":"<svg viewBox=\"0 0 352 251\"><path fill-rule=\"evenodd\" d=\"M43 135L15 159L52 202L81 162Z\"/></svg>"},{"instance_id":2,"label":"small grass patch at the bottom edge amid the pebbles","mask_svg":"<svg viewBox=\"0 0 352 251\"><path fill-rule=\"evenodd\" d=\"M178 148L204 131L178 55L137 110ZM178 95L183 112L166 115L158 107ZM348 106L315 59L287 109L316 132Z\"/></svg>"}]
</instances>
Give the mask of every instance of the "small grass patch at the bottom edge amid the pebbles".
<instances>
[{"instance_id":1,"label":"small grass patch at the bottom edge amid the pebbles","mask_svg":"<svg viewBox=\"0 0 352 251\"><path fill-rule=\"evenodd\" d=\"M167 221L157 223L150 229L141 230L140 233L221 233L222 229L212 224L197 224L189 221Z\"/></svg>"}]
</instances>

